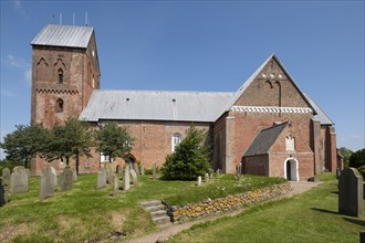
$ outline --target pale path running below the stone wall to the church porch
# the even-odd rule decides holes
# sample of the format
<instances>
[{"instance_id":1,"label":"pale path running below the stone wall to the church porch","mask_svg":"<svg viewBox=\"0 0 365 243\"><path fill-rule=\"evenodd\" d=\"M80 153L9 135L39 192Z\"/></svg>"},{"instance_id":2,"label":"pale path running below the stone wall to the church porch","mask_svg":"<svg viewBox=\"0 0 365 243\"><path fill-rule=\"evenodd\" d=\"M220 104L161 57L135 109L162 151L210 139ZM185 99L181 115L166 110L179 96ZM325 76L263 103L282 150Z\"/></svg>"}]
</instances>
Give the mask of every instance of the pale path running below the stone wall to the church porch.
<instances>
[{"instance_id":1,"label":"pale path running below the stone wall to the church porch","mask_svg":"<svg viewBox=\"0 0 365 243\"><path fill-rule=\"evenodd\" d=\"M320 183L322 183L322 182L290 181L292 190L290 192L283 194L283 196L280 196L280 197L275 198L275 199L290 198L294 194L303 193L303 192L316 187ZM217 219L223 218L223 216L234 216L234 215L241 213L246 209L242 208L240 210L228 211L228 212L219 213L219 214L216 214L216 215L212 215L212 216L209 216L209 218L202 218L202 219L194 220L194 221L190 221L190 222L186 222L186 223L182 223L182 224L171 224L170 226L161 229L159 232L156 232L156 233L153 233L153 234L149 234L149 235L145 235L145 236L138 237L138 239L128 240L128 241L125 241L125 243L163 242L167 237L169 237L174 234L177 234L180 231L189 229L194 224L198 224L198 223L202 223L202 222L207 222L207 221L213 221L213 220L217 220Z\"/></svg>"}]
</instances>

